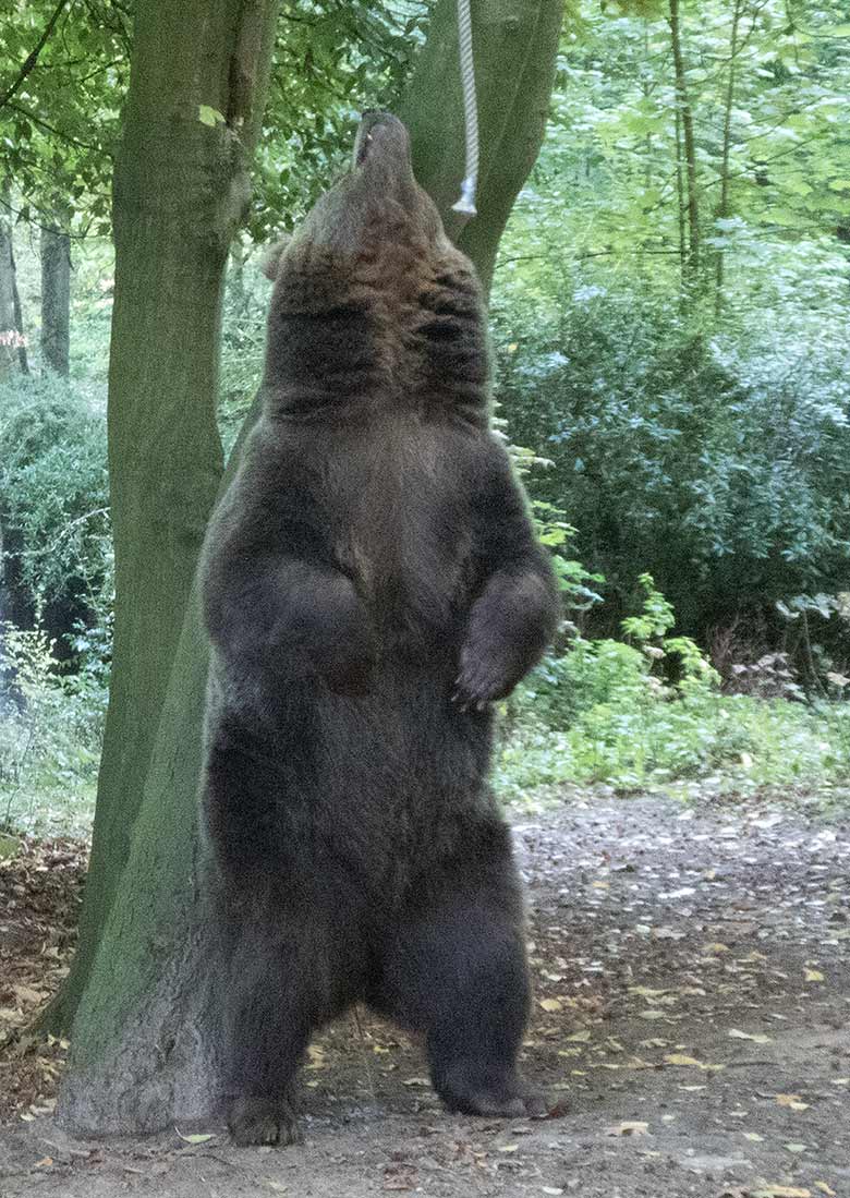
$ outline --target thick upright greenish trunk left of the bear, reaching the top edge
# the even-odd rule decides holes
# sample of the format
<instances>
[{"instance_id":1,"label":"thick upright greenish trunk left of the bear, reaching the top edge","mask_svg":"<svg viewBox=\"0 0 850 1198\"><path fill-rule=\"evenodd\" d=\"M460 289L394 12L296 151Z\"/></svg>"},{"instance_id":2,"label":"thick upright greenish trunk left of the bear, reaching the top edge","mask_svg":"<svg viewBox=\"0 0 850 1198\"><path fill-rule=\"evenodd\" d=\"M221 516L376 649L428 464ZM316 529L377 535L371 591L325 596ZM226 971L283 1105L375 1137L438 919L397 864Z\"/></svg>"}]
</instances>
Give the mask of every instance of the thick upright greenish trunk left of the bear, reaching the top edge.
<instances>
[{"instance_id":1,"label":"thick upright greenish trunk left of the bear, reaching the top edge","mask_svg":"<svg viewBox=\"0 0 850 1198\"><path fill-rule=\"evenodd\" d=\"M250 194L275 17L277 0L150 0L135 20L113 212L113 684L79 949L53 1025L73 1017L127 861L221 476L224 266Z\"/></svg>"}]
</instances>

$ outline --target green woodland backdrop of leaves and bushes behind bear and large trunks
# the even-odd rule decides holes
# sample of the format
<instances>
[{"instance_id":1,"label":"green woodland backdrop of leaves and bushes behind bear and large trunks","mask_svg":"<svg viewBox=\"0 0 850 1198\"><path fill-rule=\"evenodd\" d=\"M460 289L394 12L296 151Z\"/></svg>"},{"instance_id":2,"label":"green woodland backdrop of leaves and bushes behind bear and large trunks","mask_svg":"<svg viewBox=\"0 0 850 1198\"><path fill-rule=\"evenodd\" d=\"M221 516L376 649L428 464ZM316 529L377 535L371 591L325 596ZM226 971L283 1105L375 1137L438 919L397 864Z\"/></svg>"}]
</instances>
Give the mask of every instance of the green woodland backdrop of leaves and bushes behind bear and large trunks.
<instances>
[{"instance_id":1,"label":"green woodland backdrop of leaves and bushes behind bear and large trunks","mask_svg":"<svg viewBox=\"0 0 850 1198\"><path fill-rule=\"evenodd\" d=\"M263 246L344 169L359 109L393 107L429 17L414 2L283 6L227 272L226 448L259 382ZM86 833L93 811L114 597L110 183L130 31L122 5L98 0L0 18L8 833ZM593 785L845 800L849 96L846 4L567 8L546 141L491 294L497 418L567 616L503 712L505 799Z\"/></svg>"}]
</instances>

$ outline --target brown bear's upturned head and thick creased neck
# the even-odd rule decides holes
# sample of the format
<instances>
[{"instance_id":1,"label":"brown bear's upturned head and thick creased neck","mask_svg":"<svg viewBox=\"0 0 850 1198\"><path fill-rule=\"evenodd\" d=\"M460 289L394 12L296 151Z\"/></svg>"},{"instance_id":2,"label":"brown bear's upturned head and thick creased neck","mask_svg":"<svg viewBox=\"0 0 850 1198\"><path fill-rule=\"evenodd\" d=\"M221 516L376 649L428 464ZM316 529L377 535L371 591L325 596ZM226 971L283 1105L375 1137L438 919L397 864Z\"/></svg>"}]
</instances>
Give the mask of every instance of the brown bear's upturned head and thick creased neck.
<instances>
[{"instance_id":1,"label":"brown bear's upturned head and thick creased neck","mask_svg":"<svg viewBox=\"0 0 850 1198\"><path fill-rule=\"evenodd\" d=\"M397 117L364 114L348 173L269 254L266 273L269 410L315 417L400 395L482 410L480 288L413 176Z\"/></svg>"}]
</instances>

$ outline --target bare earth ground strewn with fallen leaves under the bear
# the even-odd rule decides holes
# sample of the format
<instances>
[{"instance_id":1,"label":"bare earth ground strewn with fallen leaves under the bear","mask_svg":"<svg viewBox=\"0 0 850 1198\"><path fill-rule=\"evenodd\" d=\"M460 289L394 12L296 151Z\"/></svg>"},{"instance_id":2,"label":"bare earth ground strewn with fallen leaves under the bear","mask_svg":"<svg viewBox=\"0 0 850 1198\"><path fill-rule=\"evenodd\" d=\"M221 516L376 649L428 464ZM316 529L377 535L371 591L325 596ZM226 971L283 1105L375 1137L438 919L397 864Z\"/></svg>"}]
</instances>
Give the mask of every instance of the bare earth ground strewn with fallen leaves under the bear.
<instances>
[{"instance_id":1,"label":"bare earth ground strewn with fallen leaves under the bear","mask_svg":"<svg viewBox=\"0 0 850 1198\"><path fill-rule=\"evenodd\" d=\"M850 1198L850 824L816 804L567 798L515 813L544 1120L442 1112L421 1052L368 1016L304 1071L305 1143L220 1127L68 1137L63 1045L14 1029L63 968L81 863L0 864L0 1198ZM10 906L12 903L13 906Z\"/></svg>"}]
</instances>

